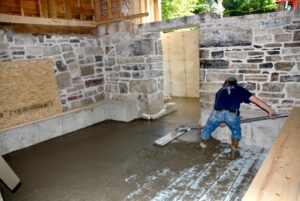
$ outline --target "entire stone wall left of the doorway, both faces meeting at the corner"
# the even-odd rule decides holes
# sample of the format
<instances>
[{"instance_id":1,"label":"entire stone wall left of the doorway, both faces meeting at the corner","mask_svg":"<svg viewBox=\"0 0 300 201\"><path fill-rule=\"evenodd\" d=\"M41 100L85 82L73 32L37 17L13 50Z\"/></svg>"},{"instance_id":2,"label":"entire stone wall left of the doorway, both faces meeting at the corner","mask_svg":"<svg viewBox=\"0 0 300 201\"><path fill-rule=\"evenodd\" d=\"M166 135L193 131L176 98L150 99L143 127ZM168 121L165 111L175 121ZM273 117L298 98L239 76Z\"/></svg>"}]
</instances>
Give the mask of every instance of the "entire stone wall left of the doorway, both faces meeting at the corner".
<instances>
[{"instance_id":1,"label":"entire stone wall left of the doorway, both faces meeting at the corner","mask_svg":"<svg viewBox=\"0 0 300 201\"><path fill-rule=\"evenodd\" d=\"M141 114L163 108L160 34L124 21L98 35L32 35L0 30L0 62L51 58L64 111L103 99L135 101Z\"/></svg>"}]
</instances>

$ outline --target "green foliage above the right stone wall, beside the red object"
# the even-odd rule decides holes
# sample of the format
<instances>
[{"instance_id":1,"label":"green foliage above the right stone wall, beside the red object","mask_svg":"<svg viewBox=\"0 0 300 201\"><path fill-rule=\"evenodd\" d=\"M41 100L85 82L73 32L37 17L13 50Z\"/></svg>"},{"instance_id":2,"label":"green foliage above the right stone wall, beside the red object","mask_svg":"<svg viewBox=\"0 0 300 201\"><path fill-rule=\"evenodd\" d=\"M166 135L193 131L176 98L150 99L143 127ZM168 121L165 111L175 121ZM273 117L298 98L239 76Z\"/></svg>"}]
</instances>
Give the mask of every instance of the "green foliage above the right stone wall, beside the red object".
<instances>
[{"instance_id":1,"label":"green foliage above the right stone wall, beside the red object","mask_svg":"<svg viewBox=\"0 0 300 201\"><path fill-rule=\"evenodd\" d=\"M223 0L224 16L239 16L276 11L275 0Z\"/></svg>"}]
</instances>

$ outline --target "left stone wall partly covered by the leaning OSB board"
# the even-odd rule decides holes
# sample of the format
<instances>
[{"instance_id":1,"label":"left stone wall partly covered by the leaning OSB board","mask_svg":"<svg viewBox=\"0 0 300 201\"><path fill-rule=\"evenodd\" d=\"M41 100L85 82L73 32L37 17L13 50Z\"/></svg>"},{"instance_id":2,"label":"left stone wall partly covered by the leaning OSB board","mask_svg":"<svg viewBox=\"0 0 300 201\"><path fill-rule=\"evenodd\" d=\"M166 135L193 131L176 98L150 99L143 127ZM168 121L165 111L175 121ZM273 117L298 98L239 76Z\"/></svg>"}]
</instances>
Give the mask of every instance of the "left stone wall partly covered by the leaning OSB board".
<instances>
[{"instance_id":1,"label":"left stone wall partly covered by the leaning OSB board","mask_svg":"<svg viewBox=\"0 0 300 201\"><path fill-rule=\"evenodd\" d=\"M0 62L51 58L64 111L105 99L104 48L97 36L0 30Z\"/></svg>"}]
</instances>

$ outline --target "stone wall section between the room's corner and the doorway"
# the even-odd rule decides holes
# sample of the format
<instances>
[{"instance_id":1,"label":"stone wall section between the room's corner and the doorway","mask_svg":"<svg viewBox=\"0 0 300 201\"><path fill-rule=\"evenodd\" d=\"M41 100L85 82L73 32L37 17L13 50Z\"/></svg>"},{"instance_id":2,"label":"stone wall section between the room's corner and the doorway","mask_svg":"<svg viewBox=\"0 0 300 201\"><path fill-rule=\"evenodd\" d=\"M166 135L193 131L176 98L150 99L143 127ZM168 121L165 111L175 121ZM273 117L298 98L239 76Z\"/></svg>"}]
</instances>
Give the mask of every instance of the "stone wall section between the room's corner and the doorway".
<instances>
[{"instance_id":1,"label":"stone wall section between the room's corner and the doorway","mask_svg":"<svg viewBox=\"0 0 300 201\"><path fill-rule=\"evenodd\" d=\"M130 22L101 26L107 99L137 101L141 113L158 114L163 104L160 33L136 32Z\"/></svg>"}]
</instances>

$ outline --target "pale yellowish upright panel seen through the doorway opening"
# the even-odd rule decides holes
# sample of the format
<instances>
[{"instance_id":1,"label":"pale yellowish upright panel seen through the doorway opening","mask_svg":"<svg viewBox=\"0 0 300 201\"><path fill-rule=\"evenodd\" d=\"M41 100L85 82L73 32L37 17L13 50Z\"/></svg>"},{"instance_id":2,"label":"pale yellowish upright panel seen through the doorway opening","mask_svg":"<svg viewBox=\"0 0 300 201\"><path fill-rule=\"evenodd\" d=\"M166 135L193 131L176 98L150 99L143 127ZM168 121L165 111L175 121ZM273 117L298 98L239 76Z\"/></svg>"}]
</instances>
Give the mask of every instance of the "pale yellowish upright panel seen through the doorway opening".
<instances>
[{"instance_id":1,"label":"pale yellowish upright panel seen through the doorway opening","mask_svg":"<svg viewBox=\"0 0 300 201\"><path fill-rule=\"evenodd\" d=\"M164 90L171 96L199 97L199 32L163 34Z\"/></svg>"}]
</instances>

